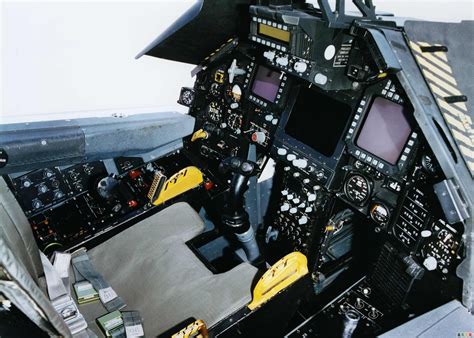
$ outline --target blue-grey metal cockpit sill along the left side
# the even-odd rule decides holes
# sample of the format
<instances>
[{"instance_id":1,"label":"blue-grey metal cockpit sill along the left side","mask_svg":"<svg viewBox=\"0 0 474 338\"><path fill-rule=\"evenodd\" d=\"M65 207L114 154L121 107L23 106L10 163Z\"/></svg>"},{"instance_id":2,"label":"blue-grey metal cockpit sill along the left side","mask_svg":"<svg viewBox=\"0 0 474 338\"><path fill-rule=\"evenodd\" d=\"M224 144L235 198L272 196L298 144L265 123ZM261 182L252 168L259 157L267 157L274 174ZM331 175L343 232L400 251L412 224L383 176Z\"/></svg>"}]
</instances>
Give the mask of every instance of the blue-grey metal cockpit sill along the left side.
<instances>
[{"instance_id":1,"label":"blue-grey metal cockpit sill along the left side","mask_svg":"<svg viewBox=\"0 0 474 338\"><path fill-rule=\"evenodd\" d=\"M0 174L176 150L194 118L171 112L0 125L8 163Z\"/></svg>"}]
</instances>

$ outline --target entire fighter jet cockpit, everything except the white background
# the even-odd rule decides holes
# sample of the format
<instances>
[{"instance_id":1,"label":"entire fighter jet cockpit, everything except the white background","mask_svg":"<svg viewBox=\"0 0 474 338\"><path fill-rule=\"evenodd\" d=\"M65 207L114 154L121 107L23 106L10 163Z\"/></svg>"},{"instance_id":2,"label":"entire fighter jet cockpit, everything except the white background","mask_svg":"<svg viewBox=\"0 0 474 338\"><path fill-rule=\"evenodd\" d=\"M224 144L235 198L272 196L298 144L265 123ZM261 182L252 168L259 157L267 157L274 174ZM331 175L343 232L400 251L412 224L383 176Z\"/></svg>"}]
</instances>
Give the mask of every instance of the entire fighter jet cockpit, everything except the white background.
<instances>
[{"instance_id":1,"label":"entire fighter jet cockpit, everything except the white background","mask_svg":"<svg viewBox=\"0 0 474 338\"><path fill-rule=\"evenodd\" d=\"M0 125L0 336L474 335L474 22L353 3L197 1L137 56L187 114Z\"/></svg>"}]
</instances>

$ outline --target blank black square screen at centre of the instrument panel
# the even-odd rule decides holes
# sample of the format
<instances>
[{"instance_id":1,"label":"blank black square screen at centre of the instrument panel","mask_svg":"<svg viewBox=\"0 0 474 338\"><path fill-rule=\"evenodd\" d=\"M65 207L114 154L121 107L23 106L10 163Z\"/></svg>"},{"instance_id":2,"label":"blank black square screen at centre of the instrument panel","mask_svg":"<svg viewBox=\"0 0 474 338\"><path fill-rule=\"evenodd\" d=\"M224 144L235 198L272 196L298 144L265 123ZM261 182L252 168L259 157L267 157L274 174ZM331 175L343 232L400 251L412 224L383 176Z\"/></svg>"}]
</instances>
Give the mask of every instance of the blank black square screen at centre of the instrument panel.
<instances>
[{"instance_id":1,"label":"blank black square screen at centre of the instrument panel","mask_svg":"<svg viewBox=\"0 0 474 338\"><path fill-rule=\"evenodd\" d=\"M350 106L302 87L285 132L326 157L334 154L351 114Z\"/></svg>"}]
</instances>

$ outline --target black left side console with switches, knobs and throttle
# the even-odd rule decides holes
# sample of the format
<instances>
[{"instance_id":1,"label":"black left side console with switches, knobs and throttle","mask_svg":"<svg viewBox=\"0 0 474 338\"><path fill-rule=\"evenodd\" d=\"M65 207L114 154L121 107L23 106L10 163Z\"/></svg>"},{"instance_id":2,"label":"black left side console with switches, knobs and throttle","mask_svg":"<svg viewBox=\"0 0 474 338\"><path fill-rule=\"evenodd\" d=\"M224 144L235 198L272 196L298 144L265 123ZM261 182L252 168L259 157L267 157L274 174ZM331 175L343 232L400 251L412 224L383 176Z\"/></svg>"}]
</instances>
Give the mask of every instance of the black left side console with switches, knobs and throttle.
<instances>
[{"instance_id":1,"label":"black left side console with switches, knobs and throttle","mask_svg":"<svg viewBox=\"0 0 474 338\"><path fill-rule=\"evenodd\" d=\"M7 182L38 247L49 253L77 247L151 211L147 194L154 173L171 175L186 163L178 154L149 163L122 157L10 175Z\"/></svg>"}]
</instances>

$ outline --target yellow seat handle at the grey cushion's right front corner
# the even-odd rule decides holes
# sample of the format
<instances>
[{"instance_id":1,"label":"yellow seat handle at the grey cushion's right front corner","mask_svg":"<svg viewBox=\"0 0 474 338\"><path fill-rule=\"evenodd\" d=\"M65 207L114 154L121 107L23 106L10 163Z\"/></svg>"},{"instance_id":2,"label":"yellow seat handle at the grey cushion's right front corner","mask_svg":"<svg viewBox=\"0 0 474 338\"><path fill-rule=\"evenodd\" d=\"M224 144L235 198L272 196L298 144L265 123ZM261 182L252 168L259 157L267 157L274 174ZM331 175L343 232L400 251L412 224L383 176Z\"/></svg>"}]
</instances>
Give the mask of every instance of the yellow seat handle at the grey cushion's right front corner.
<instances>
[{"instance_id":1,"label":"yellow seat handle at the grey cushion's right front corner","mask_svg":"<svg viewBox=\"0 0 474 338\"><path fill-rule=\"evenodd\" d=\"M308 273L308 260L301 252L292 252L268 269L253 290L247 307L254 310Z\"/></svg>"}]
</instances>

